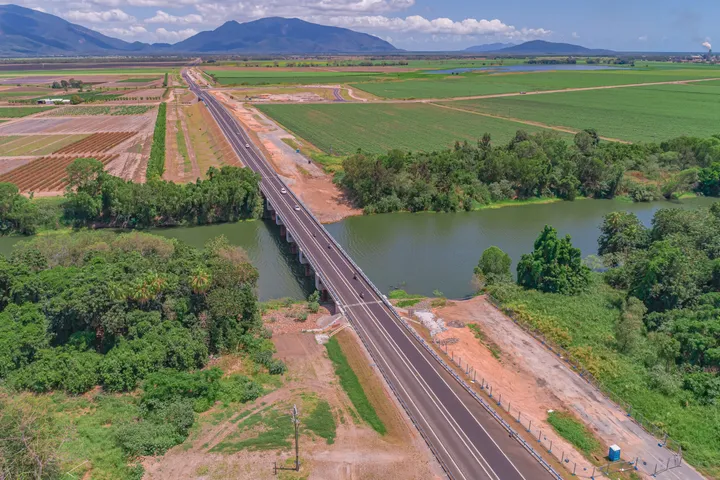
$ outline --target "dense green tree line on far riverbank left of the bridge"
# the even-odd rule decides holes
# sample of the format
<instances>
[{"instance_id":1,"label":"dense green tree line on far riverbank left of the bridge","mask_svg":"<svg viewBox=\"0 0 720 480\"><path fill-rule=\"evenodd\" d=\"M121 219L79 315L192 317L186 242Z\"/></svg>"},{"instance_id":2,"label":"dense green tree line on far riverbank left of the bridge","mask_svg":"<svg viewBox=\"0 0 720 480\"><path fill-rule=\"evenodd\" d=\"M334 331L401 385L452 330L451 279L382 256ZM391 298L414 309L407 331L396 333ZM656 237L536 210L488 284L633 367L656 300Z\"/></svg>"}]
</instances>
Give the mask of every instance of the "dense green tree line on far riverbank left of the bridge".
<instances>
[{"instance_id":1,"label":"dense green tree line on far riverbank left of the bridge","mask_svg":"<svg viewBox=\"0 0 720 480\"><path fill-rule=\"evenodd\" d=\"M68 186L60 211L47 211L0 183L0 235L33 235L41 227L149 228L203 225L259 218L260 176L247 168L210 167L207 179L176 184L154 179L135 183L105 172L92 158L67 168Z\"/></svg>"}]
</instances>

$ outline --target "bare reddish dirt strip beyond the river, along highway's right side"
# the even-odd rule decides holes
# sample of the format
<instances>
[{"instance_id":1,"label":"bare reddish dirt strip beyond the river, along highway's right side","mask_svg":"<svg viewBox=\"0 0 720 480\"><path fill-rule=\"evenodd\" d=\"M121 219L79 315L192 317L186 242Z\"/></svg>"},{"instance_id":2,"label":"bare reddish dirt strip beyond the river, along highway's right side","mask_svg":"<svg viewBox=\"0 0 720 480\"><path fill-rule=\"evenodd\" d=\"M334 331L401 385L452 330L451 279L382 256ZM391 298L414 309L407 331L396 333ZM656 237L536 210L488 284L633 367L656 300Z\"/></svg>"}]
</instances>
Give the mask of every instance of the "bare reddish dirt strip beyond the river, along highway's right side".
<instances>
[{"instance_id":1,"label":"bare reddish dirt strip beyond the river, along highway's right side","mask_svg":"<svg viewBox=\"0 0 720 480\"><path fill-rule=\"evenodd\" d=\"M275 171L285 178L293 192L300 197L323 223L360 215L362 210L353 208L332 177L304 155L297 153L283 141L295 137L261 112L246 104L230 99L225 92L213 92L235 114L263 150Z\"/></svg>"}]
</instances>

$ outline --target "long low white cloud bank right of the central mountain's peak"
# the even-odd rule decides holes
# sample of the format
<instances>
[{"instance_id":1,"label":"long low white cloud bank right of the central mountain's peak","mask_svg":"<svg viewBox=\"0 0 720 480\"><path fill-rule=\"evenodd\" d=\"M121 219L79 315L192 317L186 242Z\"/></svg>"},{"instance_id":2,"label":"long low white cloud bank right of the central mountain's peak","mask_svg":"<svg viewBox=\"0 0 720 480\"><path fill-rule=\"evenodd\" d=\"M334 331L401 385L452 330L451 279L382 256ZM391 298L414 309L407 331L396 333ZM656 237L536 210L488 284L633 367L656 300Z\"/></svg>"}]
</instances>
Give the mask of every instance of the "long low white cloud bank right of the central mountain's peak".
<instances>
[{"instance_id":1,"label":"long low white cloud bank right of the central mountain's peak","mask_svg":"<svg viewBox=\"0 0 720 480\"><path fill-rule=\"evenodd\" d=\"M311 19L321 21L322 19ZM420 15L406 18L390 18L381 15L374 16L344 16L324 19L325 23L339 27L357 28L370 31L390 31L403 33L424 33L444 35L486 35L505 38L526 39L546 37L552 32L544 28L515 28L498 19L476 20L466 18L459 22L449 18L435 18L429 20Z\"/></svg>"}]
</instances>

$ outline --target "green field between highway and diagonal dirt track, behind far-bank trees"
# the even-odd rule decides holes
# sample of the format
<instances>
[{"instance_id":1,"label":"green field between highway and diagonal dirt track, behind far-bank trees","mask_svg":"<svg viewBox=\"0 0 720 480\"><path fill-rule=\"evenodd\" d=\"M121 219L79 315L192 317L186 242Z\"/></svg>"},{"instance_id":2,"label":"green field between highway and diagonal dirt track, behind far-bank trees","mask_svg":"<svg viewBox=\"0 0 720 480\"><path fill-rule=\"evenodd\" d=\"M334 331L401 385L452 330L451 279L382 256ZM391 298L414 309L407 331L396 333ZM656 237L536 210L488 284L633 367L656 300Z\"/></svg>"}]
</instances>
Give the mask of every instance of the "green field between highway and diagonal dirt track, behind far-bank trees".
<instances>
[{"instance_id":1,"label":"green field between highway and diagonal dirt track, behind far-bank trees","mask_svg":"<svg viewBox=\"0 0 720 480\"><path fill-rule=\"evenodd\" d=\"M542 128L445 108L411 104L257 105L281 125L324 152L351 154L390 149L432 151L456 140L475 142L485 132L507 142L517 130Z\"/></svg>"}]
</instances>

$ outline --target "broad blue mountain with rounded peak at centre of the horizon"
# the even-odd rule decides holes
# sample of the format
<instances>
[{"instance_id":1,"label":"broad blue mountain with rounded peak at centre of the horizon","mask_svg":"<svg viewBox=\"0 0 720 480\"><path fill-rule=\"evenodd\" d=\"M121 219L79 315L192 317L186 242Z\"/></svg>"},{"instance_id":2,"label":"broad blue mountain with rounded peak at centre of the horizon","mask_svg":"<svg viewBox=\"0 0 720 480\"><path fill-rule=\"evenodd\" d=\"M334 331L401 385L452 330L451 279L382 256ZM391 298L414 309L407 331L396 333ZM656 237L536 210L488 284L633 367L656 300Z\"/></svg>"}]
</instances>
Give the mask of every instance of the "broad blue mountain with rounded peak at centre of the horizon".
<instances>
[{"instance_id":1,"label":"broad blue mountain with rounded peak at centre of the horizon","mask_svg":"<svg viewBox=\"0 0 720 480\"><path fill-rule=\"evenodd\" d=\"M394 52L391 44L347 28L327 27L297 18L270 17L247 23L234 20L173 45L194 53L363 53Z\"/></svg>"}]
</instances>

